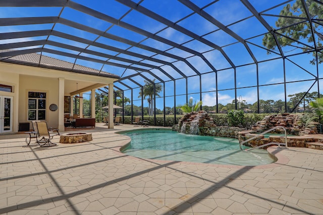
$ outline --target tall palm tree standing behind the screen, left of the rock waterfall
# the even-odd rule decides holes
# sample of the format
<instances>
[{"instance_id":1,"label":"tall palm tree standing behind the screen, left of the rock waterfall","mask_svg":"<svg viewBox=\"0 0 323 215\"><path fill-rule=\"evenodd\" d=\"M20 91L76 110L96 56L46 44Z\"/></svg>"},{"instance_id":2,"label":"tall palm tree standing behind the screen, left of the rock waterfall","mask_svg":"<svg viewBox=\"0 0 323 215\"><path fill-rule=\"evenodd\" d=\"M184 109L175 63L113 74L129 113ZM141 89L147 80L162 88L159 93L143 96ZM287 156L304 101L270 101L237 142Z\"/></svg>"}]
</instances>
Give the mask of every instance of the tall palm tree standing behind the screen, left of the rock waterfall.
<instances>
[{"instance_id":1,"label":"tall palm tree standing behind the screen, left of the rock waterfall","mask_svg":"<svg viewBox=\"0 0 323 215\"><path fill-rule=\"evenodd\" d=\"M152 82L155 82L155 79L151 80ZM143 97L144 99L148 96L147 101L148 101L148 115L152 116L153 115L153 94L154 94L154 85L151 84L149 81L144 80L145 85L143 86L143 90L139 92L139 96ZM155 84L155 96L159 96L159 92L162 90L161 84Z\"/></svg>"}]
</instances>

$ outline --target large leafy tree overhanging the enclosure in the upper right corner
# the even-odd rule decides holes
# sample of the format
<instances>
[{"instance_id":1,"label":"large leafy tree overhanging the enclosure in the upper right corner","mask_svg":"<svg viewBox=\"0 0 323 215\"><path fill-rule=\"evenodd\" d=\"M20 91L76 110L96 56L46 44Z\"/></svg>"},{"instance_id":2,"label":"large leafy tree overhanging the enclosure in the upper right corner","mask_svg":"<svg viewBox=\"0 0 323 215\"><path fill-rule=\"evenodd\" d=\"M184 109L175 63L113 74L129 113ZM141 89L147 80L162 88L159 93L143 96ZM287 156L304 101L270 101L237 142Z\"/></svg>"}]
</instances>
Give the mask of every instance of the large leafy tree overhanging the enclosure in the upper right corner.
<instances>
[{"instance_id":1,"label":"large leafy tree overhanging the enclosure in the upper right corner","mask_svg":"<svg viewBox=\"0 0 323 215\"><path fill-rule=\"evenodd\" d=\"M304 22L304 18L307 19L307 15L302 5L303 2L305 2L308 8L311 20L323 19L323 5L312 0L296 0L296 2L293 5L287 4L282 9L282 11L280 12L281 17L278 18L275 24L276 27L279 28L279 30L277 30L279 34L276 34L276 38L280 45L291 46L293 48L301 48L305 52L312 51L312 47L314 47L311 27L313 28L313 34L315 36L315 42L317 47L322 46L321 42L323 40L323 34L321 33L322 25L318 22L311 22L312 26L310 22ZM308 46L302 45L302 43L297 43L294 40L306 40L308 42ZM262 38L262 44L270 50L276 50L277 48L276 40L272 34L265 34ZM267 51L267 53L271 52ZM310 63L314 65L316 63L316 53L312 52L312 55L314 58L310 61ZM318 64L323 63L322 52L317 52L317 58Z\"/></svg>"}]
</instances>

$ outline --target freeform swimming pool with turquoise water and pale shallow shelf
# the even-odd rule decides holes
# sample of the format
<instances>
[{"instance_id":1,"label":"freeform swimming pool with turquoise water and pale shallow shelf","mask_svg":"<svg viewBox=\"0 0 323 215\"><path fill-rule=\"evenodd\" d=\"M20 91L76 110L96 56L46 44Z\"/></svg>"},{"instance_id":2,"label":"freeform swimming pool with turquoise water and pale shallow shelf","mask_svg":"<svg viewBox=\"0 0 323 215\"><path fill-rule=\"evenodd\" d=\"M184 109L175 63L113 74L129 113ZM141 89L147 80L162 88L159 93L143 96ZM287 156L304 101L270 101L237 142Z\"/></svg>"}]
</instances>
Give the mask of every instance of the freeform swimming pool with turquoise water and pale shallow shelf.
<instances>
[{"instance_id":1,"label":"freeform swimming pool with turquoise water and pale shallow shelf","mask_svg":"<svg viewBox=\"0 0 323 215\"><path fill-rule=\"evenodd\" d=\"M241 151L239 141L232 138L188 135L170 129L141 129L122 134L131 138L122 152L140 158L240 166L275 162L264 149Z\"/></svg>"}]
</instances>

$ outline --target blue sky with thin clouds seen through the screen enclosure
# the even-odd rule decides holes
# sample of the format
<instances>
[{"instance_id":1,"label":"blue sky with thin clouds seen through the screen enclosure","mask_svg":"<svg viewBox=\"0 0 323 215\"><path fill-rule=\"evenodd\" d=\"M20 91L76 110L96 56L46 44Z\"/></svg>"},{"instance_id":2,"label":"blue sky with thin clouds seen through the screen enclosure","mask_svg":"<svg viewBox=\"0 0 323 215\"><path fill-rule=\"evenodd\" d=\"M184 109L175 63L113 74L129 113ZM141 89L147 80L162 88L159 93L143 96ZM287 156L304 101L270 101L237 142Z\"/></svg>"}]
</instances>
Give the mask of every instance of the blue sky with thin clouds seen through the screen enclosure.
<instances>
[{"instance_id":1,"label":"blue sky with thin clouds seen through the screen enclosure","mask_svg":"<svg viewBox=\"0 0 323 215\"><path fill-rule=\"evenodd\" d=\"M184 34L174 28L167 27L165 24L157 22L156 20L147 17L146 15L135 11L130 10L127 6L122 5L117 1L112 0L75 0L74 2L78 4L82 4L90 9L96 10L100 13L106 14L111 18L120 20L126 24L132 25L134 27L143 29L146 32L155 34L156 36L163 37L168 39L169 41L181 44L191 50L202 53L205 59L210 62L210 64L218 70L218 97L219 103L227 104L231 103L235 98L235 91L233 88L235 87L234 82L234 70L231 68L230 63L225 59L223 54L214 49L209 45L202 43L196 39L193 39L187 34ZM134 1L138 3L139 1ZM248 47L252 51L258 62L266 61L270 59L277 58L278 55L272 53L271 55L267 55L266 50L260 48L262 45L262 37L267 32L265 27L255 18L252 17L251 12L247 10L246 7L239 0L220 0L214 4L208 5L213 1L191 1L195 5L200 8L203 8L203 11L210 15L212 18L221 22L223 25L227 26L230 30L236 33L243 40L248 41ZM230 4L229 4L230 2ZM262 12L268 8L272 8L275 5L279 5L285 1L277 0L250 0L250 3L253 7L258 11ZM293 4L295 1L290 2ZM231 59L233 64L237 66L236 69L236 86L239 87L249 87L244 89L237 89L237 97L242 96L244 100L248 103L254 103L257 100L257 88L254 87L257 85L256 79L256 71L257 68L253 63L253 59L249 55L245 46L238 42L238 40L223 30L219 30L219 27L205 20L198 14L193 14L193 11L187 7L185 7L181 2L174 0L164 0L158 1L156 4L155 0L145 0L140 3L140 6L156 13L157 15L165 17L168 21L176 22L177 25L188 29L194 34L200 36L203 39L206 39L213 44L220 46L226 55ZM207 7L205 7L207 6ZM279 12L285 5L279 6L277 8L273 8L269 11L265 11L265 14L278 15ZM204 8L205 7L205 8ZM61 13L62 8L0 8L0 17L1 18L11 18L11 17L46 17L46 16L54 16L57 17ZM190 16L189 16L190 15ZM184 17L188 16L186 19ZM275 26L275 21L277 17L275 16L262 16L264 20L270 25ZM120 42L118 40L114 40L111 38L106 38L102 36L98 36L94 33L89 33L80 29L72 28L68 25L58 23L55 26L53 24L37 24L37 25L21 25L21 26L1 26L0 32L15 32L15 31L26 31L26 30L42 30L42 29L51 29L64 33L68 33L71 35L75 35L81 38L85 38L88 40L95 40L98 43L110 45L113 47L126 49L131 52L138 53L140 55L151 57L153 59L162 60L173 64L176 68L178 68L185 75L189 76L188 78L188 97L193 97L194 100L199 100L199 77L194 76L196 73L184 62L178 61L175 57L180 57L186 59L186 61L191 64L199 73L201 73L202 78L202 101L203 105L215 105L216 104L216 82L215 82L215 73L211 72L212 69L198 56L194 56L192 53L188 51L181 50L179 48L172 47L169 44L161 43L160 41L147 38L146 36L133 32L129 29L123 28L118 25L114 25L110 22L97 19L93 16L86 15L81 13L80 11L74 10L72 8L66 7L62 11L61 18L71 20L73 22L77 22L83 25L90 26L92 28L97 29L98 31L116 35L118 37L125 38L127 40L131 40L134 43L140 43L141 45L145 45L151 48L156 48L161 51L167 52L174 56L174 58L166 55L162 55L161 53L155 53L153 51L145 50L143 48L139 48L136 46L132 46L130 44ZM239 21L240 20L240 21ZM242 21L241 21L242 20ZM214 31L214 32L213 32ZM260 35L260 36L257 36ZM257 36L257 37L255 37ZM20 39L12 39L12 40L0 40L1 43L11 43L17 41L31 41L31 40L39 40L46 39L46 36L37 37L37 38L20 38ZM49 40L67 43L69 45L74 45L77 47L86 48L88 45L68 40L62 37L50 35ZM256 45L253 45L256 44ZM59 48L55 46L45 45L47 48L51 48L54 50L66 51L68 53L78 54L77 51L68 50L64 48ZM30 48L30 47L25 47ZM99 48L97 46L90 45L87 47L89 50L98 51L101 53L105 53L107 55L118 56L120 58L125 58L129 60L133 60L135 62L141 62L146 64L151 64L157 66L166 71L168 74L173 76L174 78L181 78L181 75L174 70L174 68L169 65L164 65L157 63L155 61L145 60L138 57L130 56L125 53L118 53L117 51L107 50L103 48ZM302 52L301 49L293 49L291 47L283 47L283 51L285 55L293 55L295 53ZM53 55L50 53L43 53L44 55L58 58L64 61L73 62L75 59L62 57ZM107 61L107 58L91 56L88 53L81 53L81 56L93 57L103 61ZM285 61L286 66L286 81L300 81L313 79L309 73L316 75L316 66L312 66L309 64L309 61L312 59L311 55L299 55L289 57L288 60ZM118 63L123 65L132 65L131 63L125 63L118 60L108 60L111 63ZM295 64L300 65L300 67ZM135 74L138 71L125 69L110 65L103 65L100 63L93 63L84 60L76 60L76 64L87 66L90 68L100 70L102 68L105 72L110 72L122 77L127 75ZM249 65L252 64L252 65ZM246 65L243 67L239 67L241 65ZM149 67L145 67L143 65L132 65L137 68L149 69L152 73L157 75L159 78L166 81L165 94L168 96L166 98L166 106L174 106L174 82L170 81L169 77L164 75L157 69L151 69ZM321 65L318 66L319 71L321 71ZM259 85L267 85L267 84L276 84L272 86L262 86L259 88L259 97L260 99L267 100L273 99L285 100L284 95L284 84L280 84L284 82L284 70L283 70L283 60L273 60L267 61L258 64L259 71ZM143 72L143 74L150 79L154 79L148 73ZM141 77L134 77L135 81L140 84L144 84L144 79ZM157 81L158 82L158 81ZM124 83L128 84L131 87L137 87L136 84L131 81L125 81ZM185 91L185 80L179 79L176 81L176 104L184 104L186 100L186 96L184 94ZM306 82L296 82L290 83L286 85L287 94L294 94L297 92L307 91L309 86L311 86L313 81ZM127 89L124 85L120 83L116 83L116 86ZM310 90L317 91L317 87ZM138 99L139 88L134 89L133 97L134 99ZM159 93L161 96L164 92ZM125 91L126 97L131 97L130 90ZM158 109L163 109L163 99L158 99L156 106ZM141 101L135 101L136 105L140 105ZM147 106L147 101L144 102L144 106Z\"/></svg>"}]
</instances>

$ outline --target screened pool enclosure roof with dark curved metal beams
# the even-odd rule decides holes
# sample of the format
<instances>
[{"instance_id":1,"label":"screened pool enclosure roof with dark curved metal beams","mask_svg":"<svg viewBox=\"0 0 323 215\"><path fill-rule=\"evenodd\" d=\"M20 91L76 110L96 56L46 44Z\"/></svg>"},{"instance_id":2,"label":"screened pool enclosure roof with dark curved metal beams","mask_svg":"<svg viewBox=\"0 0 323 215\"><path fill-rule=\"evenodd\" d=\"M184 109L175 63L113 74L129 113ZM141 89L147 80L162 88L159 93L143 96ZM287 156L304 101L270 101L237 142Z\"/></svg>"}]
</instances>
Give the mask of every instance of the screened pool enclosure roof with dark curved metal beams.
<instances>
[{"instance_id":1,"label":"screened pool enclosure roof with dark curved metal beams","mask_svg":"<svg viewBox=\"0 0 323 215\"><path fill-rule=\"evenodd\" d=\"M284 7L295 2L299 3L298 11L280 14ZM318 0L0 1L0 57L1 61L12 61L17 56L38 53L39 66L42 66L41 56L49 56L72 63L74 66L66 68L69 71L79 65L93 68L120 76L115 86L126 90L144 85L144 80L164 83L235 70L295 56L304 49L322 53L323 20L318 18L319 14L310 13L315 11L309 10L311 4L322 7L323 3ZM300 13L304 16L297 16ZM289 21L276 27L280 17ZM310 39L295 40L286 31L304 24L310 26L307 29ZM263 44L266 34L273 38L271 49ZM281 45L282 38L292 46Z\"/></svg>"}]
</instances>

